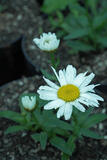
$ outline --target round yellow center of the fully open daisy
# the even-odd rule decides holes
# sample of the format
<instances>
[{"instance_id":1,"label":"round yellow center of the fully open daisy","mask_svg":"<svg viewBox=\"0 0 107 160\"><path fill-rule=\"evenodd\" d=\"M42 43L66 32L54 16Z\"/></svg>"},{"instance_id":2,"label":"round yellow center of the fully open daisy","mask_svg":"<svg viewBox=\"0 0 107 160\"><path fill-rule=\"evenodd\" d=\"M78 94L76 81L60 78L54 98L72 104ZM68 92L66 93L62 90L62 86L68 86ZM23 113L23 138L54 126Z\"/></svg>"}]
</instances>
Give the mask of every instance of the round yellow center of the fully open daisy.
<instances>
[{"instance_id":1,"label":"round yellow center of the fully open daisy","mask_svg":"<svg viewBox=\"0 0 107 160\"><path fill-rule=\"evenodd\" d=\"M80 91L75 85L67 84L59 88L57 96L66 102L71 102L80 96Z\"/></svg>"}]
</instances>

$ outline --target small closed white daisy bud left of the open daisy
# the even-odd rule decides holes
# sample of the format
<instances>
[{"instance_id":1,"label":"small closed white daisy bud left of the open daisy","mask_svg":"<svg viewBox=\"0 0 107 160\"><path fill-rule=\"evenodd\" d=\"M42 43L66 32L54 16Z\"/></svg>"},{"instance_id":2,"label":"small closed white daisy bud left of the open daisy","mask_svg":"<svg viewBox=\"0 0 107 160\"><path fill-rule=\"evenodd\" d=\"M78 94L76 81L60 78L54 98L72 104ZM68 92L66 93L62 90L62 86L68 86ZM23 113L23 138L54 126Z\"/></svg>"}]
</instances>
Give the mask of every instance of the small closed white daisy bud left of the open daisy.
<instances>
[{"instance_id":1,"label":"small closed white daisy bud left of the open daisy","mask_svg":"<svg viewBox=\"0 0 107 160\"><path fill-rule=\"evenodd\" d=\"M36 106L36 96L25 95L21 98L21 103L26 110L31 111Z\"/></svg>"}]
</instances>

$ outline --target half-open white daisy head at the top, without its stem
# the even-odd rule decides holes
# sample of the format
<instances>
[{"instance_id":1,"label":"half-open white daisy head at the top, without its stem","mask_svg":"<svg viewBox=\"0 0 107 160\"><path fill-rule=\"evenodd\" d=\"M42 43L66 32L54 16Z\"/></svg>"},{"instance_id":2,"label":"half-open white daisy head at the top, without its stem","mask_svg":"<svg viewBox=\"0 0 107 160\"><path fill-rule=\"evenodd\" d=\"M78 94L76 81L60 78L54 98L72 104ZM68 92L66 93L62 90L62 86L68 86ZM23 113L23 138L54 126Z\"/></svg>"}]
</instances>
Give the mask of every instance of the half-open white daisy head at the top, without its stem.
<instances>
[{"instance_id":1,"label":"half-open white daisy head at the top, without its stem","mask_svg":"<svg viewBox=\"0 0 107 160\"><path fill-rule=\"evenodd\" d=\"M43 33L39 38L33 39L34 43L43 51L53 52L55 51L60 43L60 40L57 39L55 33Z\"/></svg>"}]
</instances>

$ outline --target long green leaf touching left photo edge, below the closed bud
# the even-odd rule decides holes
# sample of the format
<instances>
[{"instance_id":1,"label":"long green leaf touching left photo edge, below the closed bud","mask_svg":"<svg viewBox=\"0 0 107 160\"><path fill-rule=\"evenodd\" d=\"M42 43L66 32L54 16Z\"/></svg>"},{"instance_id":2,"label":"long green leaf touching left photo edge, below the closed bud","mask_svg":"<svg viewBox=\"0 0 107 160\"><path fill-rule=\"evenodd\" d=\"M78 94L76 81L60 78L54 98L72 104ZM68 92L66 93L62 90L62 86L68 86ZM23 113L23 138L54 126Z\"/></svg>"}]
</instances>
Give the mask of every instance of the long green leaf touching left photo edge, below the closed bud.
<instances>
[{"instance_id":1,"label":"long green leaf touching left photo edge, below the closed bud","mask_svg":"<svg viewBox=\"0 0 107 160\"><path fill-rule=\"evenodd\" d=\"M0 117L7 118L7 119L13 120L13 121L18 122L18 123L24 123L25 122L24 117L20 113L16 113L16 112L13 112L13 111L1 111L0 112Z\"/></svg>"}]
</instances>

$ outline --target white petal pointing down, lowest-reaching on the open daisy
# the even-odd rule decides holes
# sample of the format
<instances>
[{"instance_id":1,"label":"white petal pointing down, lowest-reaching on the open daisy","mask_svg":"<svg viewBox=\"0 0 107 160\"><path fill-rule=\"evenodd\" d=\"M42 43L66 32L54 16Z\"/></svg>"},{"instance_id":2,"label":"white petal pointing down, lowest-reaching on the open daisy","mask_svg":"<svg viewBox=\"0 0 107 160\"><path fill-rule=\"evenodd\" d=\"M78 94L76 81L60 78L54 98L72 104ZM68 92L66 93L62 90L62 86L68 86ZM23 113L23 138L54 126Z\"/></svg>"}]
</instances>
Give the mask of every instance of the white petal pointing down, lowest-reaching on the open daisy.
<instances>
[{"instance_id":1,"label":"white petal pointing down, lowest-reaching on the open daisy","mask_svg":"<svg viewBox=\"0 0 107 160\"><path fill-rule=\"evenodd\" d=\"M65 105L65 111L64 111L65 120L70 119L71 114L72 114L72 110L73 110L72 105L70 103L66 103L66 105Z\"/></svg>"}]
</instances>

